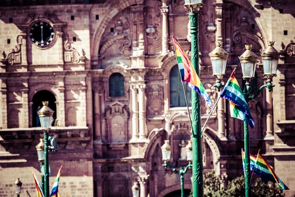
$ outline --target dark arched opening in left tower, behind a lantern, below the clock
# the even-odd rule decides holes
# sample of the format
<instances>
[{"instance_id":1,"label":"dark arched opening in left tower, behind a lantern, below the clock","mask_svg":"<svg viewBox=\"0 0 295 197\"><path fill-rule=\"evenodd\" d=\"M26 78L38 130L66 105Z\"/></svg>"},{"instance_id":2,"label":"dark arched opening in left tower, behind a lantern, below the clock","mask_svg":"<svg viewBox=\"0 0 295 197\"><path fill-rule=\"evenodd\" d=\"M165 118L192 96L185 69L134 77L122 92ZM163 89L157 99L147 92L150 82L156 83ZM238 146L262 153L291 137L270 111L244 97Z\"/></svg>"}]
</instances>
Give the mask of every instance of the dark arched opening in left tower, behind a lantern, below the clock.
<instances>
[{"instance_id":1,"label":"dark arched opening in left tower, behind a lantern, below the clock","mask_svg":"<svg viewBox=\"0 0 295 197\"><path fill-rule=\"evenodd\" d=\"M40 121L37 120L39 118L37 116L37 109L43 106L42 101L49 101L48 106L54 111L53 118L54 120L57 119L57 105L56 105L56 98L54 94L47 90L41 90L37 92L32 99L32 126L33 127L40 127Z\"/></svg>"}]
</instances>

